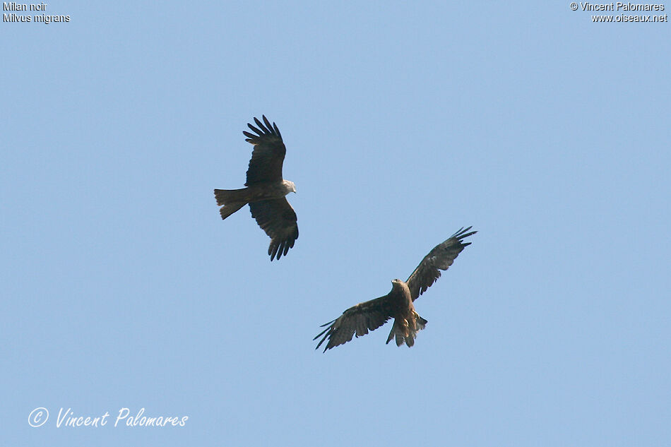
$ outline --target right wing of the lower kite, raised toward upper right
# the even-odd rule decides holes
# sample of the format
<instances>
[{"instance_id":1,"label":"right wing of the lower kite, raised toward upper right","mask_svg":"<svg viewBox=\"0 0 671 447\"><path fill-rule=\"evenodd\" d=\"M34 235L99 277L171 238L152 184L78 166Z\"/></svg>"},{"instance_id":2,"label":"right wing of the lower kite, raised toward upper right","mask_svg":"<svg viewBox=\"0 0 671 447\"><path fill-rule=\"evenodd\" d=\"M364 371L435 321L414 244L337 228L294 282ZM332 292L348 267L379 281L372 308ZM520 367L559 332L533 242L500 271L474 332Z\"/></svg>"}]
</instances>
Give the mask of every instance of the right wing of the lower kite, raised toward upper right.
<instances>
[{"instance_id":1,"label":"right wing of the lower kite, raised toward upper right","mask_svg":"<svg viewBox=\"0 0 671 447\"><path fill-rule=\"evenodd\" d=\"M420 265L415 268L415 271L406 281L410 289L410 295L412 295L412 301L426 292L429 286L440 278L440 270L447 270L461 251L470 245L470 242L464 243L463 239L477 233L475 231L468 233L471 228L464 229L462 227L445 242L434 246L432 251L424 256Z\"/></svg>"}]
</instances>

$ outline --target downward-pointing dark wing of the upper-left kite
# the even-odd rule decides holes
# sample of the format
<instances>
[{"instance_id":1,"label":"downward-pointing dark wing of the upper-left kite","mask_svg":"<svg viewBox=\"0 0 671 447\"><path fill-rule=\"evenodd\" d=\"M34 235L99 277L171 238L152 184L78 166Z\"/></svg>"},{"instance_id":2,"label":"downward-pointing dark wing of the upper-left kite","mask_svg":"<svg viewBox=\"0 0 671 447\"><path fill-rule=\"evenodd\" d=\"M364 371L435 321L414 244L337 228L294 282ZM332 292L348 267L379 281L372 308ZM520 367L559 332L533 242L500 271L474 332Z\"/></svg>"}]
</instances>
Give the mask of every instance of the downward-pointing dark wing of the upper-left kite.
<instances>
[{"instance_id":1,"label":"downward-pointing dark wing of the upper-left kite","mask_svg":"<svg viewBox=\"0 0 671 447\"><path fill-rule=\"evenodd\" d=\"M271 238L268 254L271 261L277 256L287 254L298 239L298 224L294 208L291 208L287 198L273 198L268 201L249 203L251 217Z\"/></svg>"}]
</instances>

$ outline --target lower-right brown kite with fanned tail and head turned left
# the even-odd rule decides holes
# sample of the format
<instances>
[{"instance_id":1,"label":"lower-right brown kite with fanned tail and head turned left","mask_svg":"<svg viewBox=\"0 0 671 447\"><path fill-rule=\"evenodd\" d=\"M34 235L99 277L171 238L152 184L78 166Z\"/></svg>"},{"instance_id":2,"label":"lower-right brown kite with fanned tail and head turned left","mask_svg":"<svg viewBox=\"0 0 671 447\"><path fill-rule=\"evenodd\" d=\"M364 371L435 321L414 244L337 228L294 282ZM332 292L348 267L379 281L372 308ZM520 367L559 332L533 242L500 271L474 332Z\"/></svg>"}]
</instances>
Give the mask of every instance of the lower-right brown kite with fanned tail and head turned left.
<instances>
[{"instance_id":1,"label":"lower-right brown kite with fanned tail and head turned left","mask_svg":"<svg viewBox=\"0 0 671 447\"><path fill-rule=\"evenodd\" d=\"M424 329L427 321L417 314L412 302L440 278L440 270L447 270L458 254L470 245L470 242L463 242L463 239L477 233L468 232L471 228L462 227L445 242L434 246L407 281L391 282L391 292L384 297L352 306L335 320L321 325L322 328L326 326L326 329L313 339L316 340L323 335L315 349L318 349L325 340L328 342L324 352L343 345L352 340L352 335L357 337L366 335L369 330L382 326L389 318L393 318L394 321L387 343L396 338L397 346L403 345L403 342L408 347L415 345L417 332Z\"/></svg>"}]
</instances>

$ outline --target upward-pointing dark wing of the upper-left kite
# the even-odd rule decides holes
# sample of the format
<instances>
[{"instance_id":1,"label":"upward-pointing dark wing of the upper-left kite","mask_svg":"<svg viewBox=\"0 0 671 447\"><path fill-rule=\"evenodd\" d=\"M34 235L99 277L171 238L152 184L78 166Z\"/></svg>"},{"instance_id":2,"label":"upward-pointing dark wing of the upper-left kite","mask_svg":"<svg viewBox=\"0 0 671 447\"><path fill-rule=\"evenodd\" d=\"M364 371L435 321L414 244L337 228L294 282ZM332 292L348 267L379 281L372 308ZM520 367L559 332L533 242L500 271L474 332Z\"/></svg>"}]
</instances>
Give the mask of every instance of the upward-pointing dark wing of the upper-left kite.
<instances>
[{"instance_id":1,"label":"upward-pointing dark wing of the upper-left kite","mask_svg":"<svg viewBox=\"0 0 671 447\"><path fill-rule=\"evenodd\" d=\"M266 116L263 116L263 123L258 118L254 118L256 127L247 124L249 129L256 132L244 133L245 141L254 145L254 151L251 153L251 160L249 160L249 167L247 168L247 183L244 186L249 186L261 181L282 181L282 163L284 162L284 155L287 153L282 142L282 135L280 129L270 121Z\"/></svg>"}]
</instances>

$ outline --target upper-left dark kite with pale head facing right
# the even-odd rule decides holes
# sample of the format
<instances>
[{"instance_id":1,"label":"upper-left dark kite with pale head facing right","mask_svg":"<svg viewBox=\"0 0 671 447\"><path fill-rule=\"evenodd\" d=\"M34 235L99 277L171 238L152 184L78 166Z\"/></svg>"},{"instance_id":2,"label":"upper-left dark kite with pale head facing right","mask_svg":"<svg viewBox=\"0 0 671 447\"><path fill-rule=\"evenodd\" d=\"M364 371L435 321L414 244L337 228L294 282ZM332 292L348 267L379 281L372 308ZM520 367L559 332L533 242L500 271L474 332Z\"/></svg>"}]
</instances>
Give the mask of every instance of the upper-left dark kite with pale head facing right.
<instances>
[{"instance_id":1,"label":"upper-left dark kite with pale head facing right","mask_svg":"<svg viewBox=\"0 0 671 447\"><path fill-rule=\"evenodd\" d=\"M288 193L295 193L293 181L282 178L282 164L287 148L282 141L280 129L263 116L263 122L254 118L256 127L247 124L251 131L243 131L246 141L254 145L251 153L249 168L247 168L247 183L243 189L215 189L214 196L220 209L221 218L232 215L249 203L251 217L256 219L259 227L271 238L268 254L279 259L287 254L298 239L297 217L294 208L285 197Z\"/></svg>"}]
</instances>

